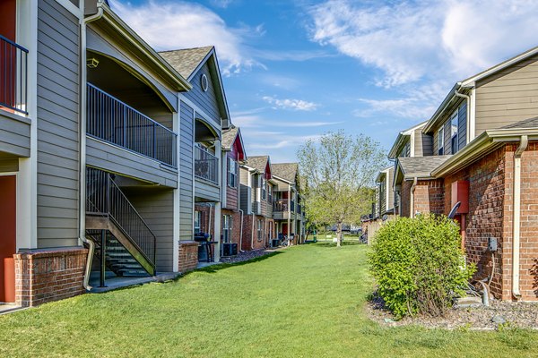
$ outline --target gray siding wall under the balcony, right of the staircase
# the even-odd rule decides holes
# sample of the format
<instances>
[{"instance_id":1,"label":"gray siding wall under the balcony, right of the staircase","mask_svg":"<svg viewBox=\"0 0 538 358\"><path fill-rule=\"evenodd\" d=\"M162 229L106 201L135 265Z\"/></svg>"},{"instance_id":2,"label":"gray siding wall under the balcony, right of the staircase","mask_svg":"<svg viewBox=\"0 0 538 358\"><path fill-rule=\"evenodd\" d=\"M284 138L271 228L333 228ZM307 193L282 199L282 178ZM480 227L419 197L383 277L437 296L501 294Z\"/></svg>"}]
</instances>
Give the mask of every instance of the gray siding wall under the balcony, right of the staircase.
<instances>
[{"instance_id":1,"label":"gray siding wall under the balcony, right of the staircase","mask_svg":"<svg viewBox=\"0 0 538 358\"><path fill-rule=\"evenodd\" d=\"M157 271L171 272L174 258L174 192L173 190L126 191L157 242Z\"/></svg>"}]
</instances>

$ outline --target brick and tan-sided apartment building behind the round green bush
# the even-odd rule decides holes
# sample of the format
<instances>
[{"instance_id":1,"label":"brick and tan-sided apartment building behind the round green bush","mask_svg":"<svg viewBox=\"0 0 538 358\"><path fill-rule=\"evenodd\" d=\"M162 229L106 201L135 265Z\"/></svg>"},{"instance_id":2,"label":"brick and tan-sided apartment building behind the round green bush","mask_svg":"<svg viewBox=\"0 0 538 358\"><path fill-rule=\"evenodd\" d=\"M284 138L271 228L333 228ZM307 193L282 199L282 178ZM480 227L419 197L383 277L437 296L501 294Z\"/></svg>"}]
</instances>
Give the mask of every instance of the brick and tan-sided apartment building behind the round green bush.
<instances>
[{"instance_id":1,"label":"brick and tan-sided apartment building behind the round green bush","mask_svg":"<svg viewBox=\"0 0 538 358\"><path fill-rule=\"evenodd\" d=\"M538 299L537 61L534 47L457 82L422 127L431 156L395 166L400 214L452 214L474 278L503 300Z\"/></svg>"}]
</instances>

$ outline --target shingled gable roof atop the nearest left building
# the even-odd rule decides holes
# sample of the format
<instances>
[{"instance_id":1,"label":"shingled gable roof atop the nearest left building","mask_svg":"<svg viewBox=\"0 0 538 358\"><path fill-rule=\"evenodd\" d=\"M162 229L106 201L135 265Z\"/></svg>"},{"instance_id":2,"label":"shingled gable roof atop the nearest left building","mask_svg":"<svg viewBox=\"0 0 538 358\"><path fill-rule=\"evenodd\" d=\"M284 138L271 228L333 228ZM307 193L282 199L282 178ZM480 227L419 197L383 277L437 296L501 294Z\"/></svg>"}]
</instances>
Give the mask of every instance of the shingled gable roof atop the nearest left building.
<instances>
[{"instance_id":1,"label":"shingled gable roof atop the nearest left building","mask_svg":"<svg viewBox=\"0 0 538 358\"><path fill-rule=\"evenodd\" d=\"M204 64L207 64L215 88L215 96L217 97L221 119L230 120L230 110L228 109L228 102L224 93L224 86L222 85L221 70L215 47L195 47L162 51L159 55L189 82L192 82L195 74L200 71Z\"/></svg>"}]
</instances>

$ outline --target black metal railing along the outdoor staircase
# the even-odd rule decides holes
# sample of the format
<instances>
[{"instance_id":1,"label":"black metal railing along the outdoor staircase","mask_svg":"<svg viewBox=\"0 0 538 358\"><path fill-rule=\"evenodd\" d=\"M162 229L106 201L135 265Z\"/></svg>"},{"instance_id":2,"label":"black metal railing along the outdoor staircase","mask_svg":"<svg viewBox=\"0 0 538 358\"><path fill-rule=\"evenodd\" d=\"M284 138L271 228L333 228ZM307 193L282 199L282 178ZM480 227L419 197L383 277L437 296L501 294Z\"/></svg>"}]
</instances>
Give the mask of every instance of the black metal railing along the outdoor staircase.
<instances>
[{"instance_id":1,"label":"black metal railing along the outdoor staircase","mask_svg":"<svg viewBox=\"0 0 538 358\"><path fill-rule=\"evenodd\" d=\"M88 168L86 191L86 214L112 219L154 268L157 243L155 234L112 176L102 170Z\"/></svg>"}]
</instances>

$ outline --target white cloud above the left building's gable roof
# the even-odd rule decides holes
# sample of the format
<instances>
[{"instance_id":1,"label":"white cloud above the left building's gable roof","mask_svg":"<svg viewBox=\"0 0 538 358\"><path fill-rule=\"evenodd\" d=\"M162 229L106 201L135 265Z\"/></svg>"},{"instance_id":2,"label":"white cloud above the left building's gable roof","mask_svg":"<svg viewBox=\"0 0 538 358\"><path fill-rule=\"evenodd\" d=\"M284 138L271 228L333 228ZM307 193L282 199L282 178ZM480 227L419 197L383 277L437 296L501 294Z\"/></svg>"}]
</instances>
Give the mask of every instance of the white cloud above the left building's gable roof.
<instances>
[{"instance_id":1,"label":"white cloud above the left building's gable roof","mask_svg":"<svg viewBox=\"0 0 538 358\"><path fill-rule=\"evenodd\" d=\"M245 38L259 29L231 28L208 8L180 0L133 4L112 1L113 10L157 50L215 46L225 75L260 65L248 55ZM254 35L253 35L254 34Z\"/></svg>"}]
</instances>

